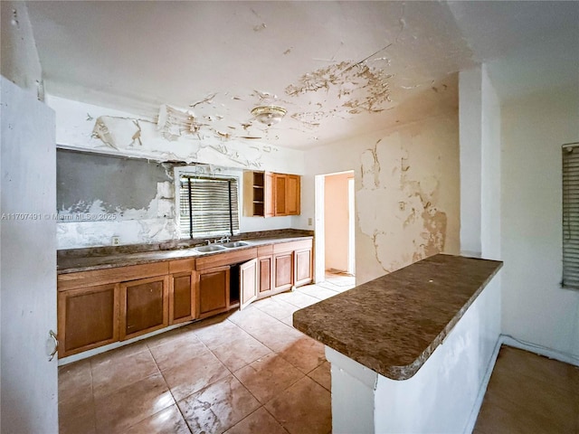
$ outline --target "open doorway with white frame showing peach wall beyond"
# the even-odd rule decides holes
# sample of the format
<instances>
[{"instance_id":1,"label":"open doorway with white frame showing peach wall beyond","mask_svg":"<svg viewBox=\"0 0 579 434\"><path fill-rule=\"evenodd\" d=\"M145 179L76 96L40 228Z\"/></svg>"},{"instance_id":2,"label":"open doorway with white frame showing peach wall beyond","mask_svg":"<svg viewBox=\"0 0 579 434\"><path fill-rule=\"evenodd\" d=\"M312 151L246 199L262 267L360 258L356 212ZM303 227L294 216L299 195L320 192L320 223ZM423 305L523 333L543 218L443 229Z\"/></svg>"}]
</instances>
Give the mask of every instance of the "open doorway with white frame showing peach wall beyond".
<instances>
[{"instance_id":1,"label":"open doorway with white frame showing peach wall beyond","mask_svg":"<svg viewBox=\"0 0 579 434\"><path fill-rule=\"evenodd\" d=\"M316 283L356 273L354 171L316 176Z\"/></svg>"}]
</instances>

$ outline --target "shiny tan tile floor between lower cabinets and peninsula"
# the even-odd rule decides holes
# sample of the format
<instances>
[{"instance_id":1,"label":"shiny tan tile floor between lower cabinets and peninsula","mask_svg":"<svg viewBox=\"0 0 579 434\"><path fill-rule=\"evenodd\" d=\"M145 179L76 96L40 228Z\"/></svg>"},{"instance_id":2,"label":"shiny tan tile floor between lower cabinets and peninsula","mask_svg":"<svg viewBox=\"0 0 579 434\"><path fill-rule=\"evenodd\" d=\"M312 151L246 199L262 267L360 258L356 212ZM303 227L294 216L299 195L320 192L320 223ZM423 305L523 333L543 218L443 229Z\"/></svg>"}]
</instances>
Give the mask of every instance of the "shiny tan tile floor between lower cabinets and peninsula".
<instances>
[{"instance_id":1,"label":"shiny tan tile floor between lower cabinets and peninsula","mask_svg":"<svg viewBox=\"0 0 579 434\"><path fill-rule=\"evenodd\" d=\"M292 314L354 286L327 276L59 369L61 434L328 433L329 363Z\"/></svg>"}]
</instances>

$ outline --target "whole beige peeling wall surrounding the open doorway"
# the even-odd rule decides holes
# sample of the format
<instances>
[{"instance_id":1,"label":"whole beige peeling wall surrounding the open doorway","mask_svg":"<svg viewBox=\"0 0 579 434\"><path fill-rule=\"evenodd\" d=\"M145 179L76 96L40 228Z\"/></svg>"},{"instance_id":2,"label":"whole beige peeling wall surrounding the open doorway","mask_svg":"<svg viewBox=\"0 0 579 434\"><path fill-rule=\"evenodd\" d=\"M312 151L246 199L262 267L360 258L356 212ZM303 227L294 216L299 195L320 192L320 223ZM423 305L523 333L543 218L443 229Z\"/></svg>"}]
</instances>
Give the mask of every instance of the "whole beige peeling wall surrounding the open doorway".
<instances>
[{"instance_id":1,"label":"whole beige peeling wall surrounding the open doorway","mask_svg":"<svg viewBox=\"0 0 579 434\"><path fill-rule=\"evenodd\" d=\"M313 214L314 175L355 171L356 283L440 251L459 253L456 111L315 148L306 169L304 218Z\"/></svg>"}]
</instances>

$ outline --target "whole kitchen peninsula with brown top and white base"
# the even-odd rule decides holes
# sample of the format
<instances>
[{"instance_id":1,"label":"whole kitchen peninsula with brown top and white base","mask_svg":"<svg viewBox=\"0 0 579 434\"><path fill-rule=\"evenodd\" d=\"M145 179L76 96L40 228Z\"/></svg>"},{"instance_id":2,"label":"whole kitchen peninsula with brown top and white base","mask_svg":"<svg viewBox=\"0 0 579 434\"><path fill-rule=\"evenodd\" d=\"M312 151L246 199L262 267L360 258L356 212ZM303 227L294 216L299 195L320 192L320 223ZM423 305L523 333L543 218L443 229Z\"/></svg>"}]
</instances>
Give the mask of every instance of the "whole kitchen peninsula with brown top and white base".
<instances>
[{"instance_id":1,"label":"whole kitchen peninsula with brown top and white base","mask_svg":"<svg viewBox=\"0 0 579 434\"><path fill-rule=\"evenodd\" d=\"M468 429L496 354L501 266L439 254L297 311L332 364L333 432Z\"/></svg>"}]
</instances>

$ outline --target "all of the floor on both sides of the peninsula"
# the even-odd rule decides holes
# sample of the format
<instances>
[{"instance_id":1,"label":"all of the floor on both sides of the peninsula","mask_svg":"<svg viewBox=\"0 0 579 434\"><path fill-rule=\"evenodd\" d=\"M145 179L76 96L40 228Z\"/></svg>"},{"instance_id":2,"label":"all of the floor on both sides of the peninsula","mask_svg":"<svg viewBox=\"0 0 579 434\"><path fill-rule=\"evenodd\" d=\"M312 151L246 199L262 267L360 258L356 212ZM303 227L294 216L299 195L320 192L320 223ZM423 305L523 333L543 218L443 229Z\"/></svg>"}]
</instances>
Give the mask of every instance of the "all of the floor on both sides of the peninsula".
<instances>
[{"instance_id":1,"label":"all of the floor on both sides of the peninsula","mask_svg":"<svg viewBox=\"0 0 579 434\"><path fill-rule=\"evenodd\" d=\"M59 370L61 434L328 433L323 345L293 312L352 288L332 275ZM579 368L503 346L474 434L579 434Z\"/></svg>"}]
</instances>

